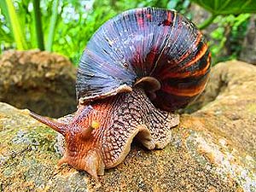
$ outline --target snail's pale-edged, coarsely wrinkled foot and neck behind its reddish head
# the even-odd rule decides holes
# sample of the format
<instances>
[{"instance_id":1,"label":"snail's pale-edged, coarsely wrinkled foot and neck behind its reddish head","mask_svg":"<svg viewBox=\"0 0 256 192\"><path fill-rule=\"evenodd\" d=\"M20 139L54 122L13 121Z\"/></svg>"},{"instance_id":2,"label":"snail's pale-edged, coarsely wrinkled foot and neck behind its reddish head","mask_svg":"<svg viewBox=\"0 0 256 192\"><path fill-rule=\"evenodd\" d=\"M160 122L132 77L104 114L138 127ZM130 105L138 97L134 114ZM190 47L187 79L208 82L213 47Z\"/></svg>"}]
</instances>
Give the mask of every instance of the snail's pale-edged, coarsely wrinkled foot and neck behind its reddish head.
<instances>
[{"instance_id":1,"label":"snail's pale-edged, coarsely wrinkled foot and neck behind its reddish head","mask_svg":"<svg viewBox=\"0 0 256 192\"><path fill-rule=\"evenodd\" d=\"M148 149L164 148L170 142L170 131L178 124L178 116L154 108L142 90L121 94L113 103L111 126L105 125L109 131L102 137L103 148L110 152L105 156L107 167L116 166L119 158L125 157L137 131L143 131L138 135L139 141Z\"/></svg>"}]
</instances>

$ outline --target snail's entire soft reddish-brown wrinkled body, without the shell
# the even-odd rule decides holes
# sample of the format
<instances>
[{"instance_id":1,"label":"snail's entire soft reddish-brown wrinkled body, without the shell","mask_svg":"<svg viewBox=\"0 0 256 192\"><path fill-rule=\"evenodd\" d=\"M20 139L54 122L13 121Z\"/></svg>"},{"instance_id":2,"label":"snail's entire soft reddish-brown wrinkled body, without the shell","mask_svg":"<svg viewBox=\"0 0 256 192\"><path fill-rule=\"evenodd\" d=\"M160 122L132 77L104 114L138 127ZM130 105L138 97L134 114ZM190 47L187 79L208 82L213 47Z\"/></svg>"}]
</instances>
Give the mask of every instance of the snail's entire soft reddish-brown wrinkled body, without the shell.
<instances>
[{"instance_id":1,"label":"snail's entire soft reddish-brown wrinkled body, without the shell","mask_svg":"<svg viewBox=\"0 0 256 192\"><path fill-rule=\"evenodd\" d=\"M68 163L93 177L124 160L134 137L148 149L166 147L172 127L179 123L177 114L155 108L138 88L90 106L80 105L68 123L31 115L65 137L67 148L59 164ZM93 120L100 126L90 130Z\"/></svg>"}]
</instances>

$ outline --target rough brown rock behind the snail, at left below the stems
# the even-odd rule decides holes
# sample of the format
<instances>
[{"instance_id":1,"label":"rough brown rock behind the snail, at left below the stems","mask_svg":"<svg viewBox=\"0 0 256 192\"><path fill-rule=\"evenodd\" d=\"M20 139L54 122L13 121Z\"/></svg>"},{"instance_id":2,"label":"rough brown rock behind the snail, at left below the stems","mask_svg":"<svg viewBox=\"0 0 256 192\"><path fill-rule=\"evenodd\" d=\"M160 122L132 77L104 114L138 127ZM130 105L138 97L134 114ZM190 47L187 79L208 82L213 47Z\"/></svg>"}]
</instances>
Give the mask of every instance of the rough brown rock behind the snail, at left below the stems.
<instances>
[{"instance_id":1,"label":"rough brown rock behind the snail, at left below the stems","mask_svg":"<svg viewBox=\"0 0 256 192\"><path fill-rule=\"evenodd\" d=\"M60 117L76 109L76 69L66 57L9 50L0 58L0 102Z\"/></svg>"}]
</instances>

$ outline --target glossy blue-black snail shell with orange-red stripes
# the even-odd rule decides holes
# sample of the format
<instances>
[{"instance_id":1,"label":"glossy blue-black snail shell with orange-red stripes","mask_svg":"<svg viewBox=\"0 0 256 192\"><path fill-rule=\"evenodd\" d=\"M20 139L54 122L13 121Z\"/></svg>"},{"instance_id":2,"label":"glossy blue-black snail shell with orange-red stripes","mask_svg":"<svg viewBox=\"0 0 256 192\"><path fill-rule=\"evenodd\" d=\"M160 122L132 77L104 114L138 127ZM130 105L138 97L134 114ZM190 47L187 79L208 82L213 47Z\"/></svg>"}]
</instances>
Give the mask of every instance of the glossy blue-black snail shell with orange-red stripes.
<instances>
[{"instance_id":1,"label":"glossy blue-black snail shell with orange-red stripes","mask_svg":"<svg viewBox=\"0 0 256 192\"><path fill-rule=\"evenodd\" d=\"M183 15L167 9L131 9L103 24L79 61L79 102L131 90L143 77L154 77L158 108L183 108L201 94L211 54L203 35Z\"/></svg>"}]
</instances>

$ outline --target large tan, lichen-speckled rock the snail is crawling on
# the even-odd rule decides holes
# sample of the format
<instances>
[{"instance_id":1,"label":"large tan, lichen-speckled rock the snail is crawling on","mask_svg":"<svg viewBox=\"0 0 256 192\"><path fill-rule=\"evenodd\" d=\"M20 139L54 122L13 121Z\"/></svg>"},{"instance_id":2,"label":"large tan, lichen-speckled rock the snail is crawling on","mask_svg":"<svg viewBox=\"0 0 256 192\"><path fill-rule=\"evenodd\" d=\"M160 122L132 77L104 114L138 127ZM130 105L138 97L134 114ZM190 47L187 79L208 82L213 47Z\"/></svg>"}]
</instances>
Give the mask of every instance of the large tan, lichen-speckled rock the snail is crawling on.
<instances>
[{"instance_id":1,"label":"large tan, lichen-speckled rock the snail is crawling on","mask_svg":"<svg viewBox=\"0 0 256 192\"><path fill-rule=\"evenodd\" d=\"M241 61L212 68L207 104L182 115L171 143L154 151L132 143L101 187L86 172L56 166L55 131L0 103L0 190L256 191L255 73Z\"/></svg>"}]
</instances>

